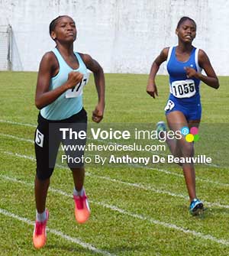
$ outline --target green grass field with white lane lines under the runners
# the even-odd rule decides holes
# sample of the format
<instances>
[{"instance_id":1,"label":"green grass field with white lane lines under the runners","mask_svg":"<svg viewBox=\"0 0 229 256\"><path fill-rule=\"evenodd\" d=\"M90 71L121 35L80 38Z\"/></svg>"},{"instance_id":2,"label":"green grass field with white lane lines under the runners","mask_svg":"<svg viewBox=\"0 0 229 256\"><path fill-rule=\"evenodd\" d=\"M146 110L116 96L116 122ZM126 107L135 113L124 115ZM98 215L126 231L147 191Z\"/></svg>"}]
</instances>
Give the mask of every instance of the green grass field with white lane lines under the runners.
<instances>
[{"instance_id":1,"label":"green grass field with white lane lines under the runners","mask_svg":"<svg viewBox=\"0 0 229 256\"><path fill-rule=\"evenodd\" d=\"M154 100L145 92L146 75L105 77L105 118L97 127L118 123L130 128L165 119L167 76L158 76L159 97ZM0 73L1 256L229 254L228 77L220 77L218 90L204 84L201 89L201 140L196 154L213 157L212 165L196 167L198 197L208 208L205 215L189 214L182 170L175 164L89 164L85 188L92 215L88 223L78 225L73 179L65 166L58 165L47 198L47 245L40 250L32 245L36 79L37 73ZM89 120L97 100L94 87L91 77L84 91Z\"/></svg>"}]
</instances>

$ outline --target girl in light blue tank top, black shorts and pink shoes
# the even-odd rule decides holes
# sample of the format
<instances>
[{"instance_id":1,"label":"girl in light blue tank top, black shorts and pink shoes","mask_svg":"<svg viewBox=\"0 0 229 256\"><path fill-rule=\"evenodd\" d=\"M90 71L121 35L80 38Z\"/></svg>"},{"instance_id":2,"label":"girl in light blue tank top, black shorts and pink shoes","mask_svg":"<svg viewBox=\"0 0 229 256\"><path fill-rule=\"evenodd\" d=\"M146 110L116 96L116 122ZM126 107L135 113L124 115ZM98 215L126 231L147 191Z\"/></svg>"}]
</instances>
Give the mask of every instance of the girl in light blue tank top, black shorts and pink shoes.
<instances>
[{"instance_id":1,"label":"girl in light blue tank top, black shorts and pink shoes","mask_svg":"<svg viewBox=\"0 0 229 256\"><path fill-rule=\"evenodd\" d=\"M87 69L91 70L98 92L98 104L92 112L92 120L101 122L105 108L105 77L102 67L88 54L73 51L76 40L76 24L69 16L59 16L50 23L50 36L56 43L55 49L44 54L37 78L35 104L40 109L35 132L37 173L35 177L36 222L33 241L35 248L45 245L46 225L49 212L45 209L50 177L56 162L56 154L62 140L60 134L53 136L58 128L77 128L86 132L87 115L82 107L82 89L87 83ZM54 125L54 130L50 129ZM73 126L71 126L73 125ZM66 143L66 142L65 142ZM74 141L73 143L78 143ZM85 145L85 139L80 141ZM72 152L83 157L83 151ZM73 172L75 216L79 223L89 219L90 210L83 188L85 169L83 163L70 165Z\"/></svg>"}]
</instances>

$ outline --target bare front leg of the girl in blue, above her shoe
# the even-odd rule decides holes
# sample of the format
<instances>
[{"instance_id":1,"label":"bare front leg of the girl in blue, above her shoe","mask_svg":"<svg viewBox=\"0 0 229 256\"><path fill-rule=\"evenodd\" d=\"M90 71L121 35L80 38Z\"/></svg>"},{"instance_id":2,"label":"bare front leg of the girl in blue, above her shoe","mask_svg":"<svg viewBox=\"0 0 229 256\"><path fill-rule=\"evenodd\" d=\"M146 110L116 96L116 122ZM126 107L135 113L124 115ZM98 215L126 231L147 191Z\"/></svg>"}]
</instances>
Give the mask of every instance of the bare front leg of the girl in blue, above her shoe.
<instances>
[{"instance_id":1,"label":"bare front leg of the girl in blue, above her shoe","mask_svg":"<svg viewBox=\"0 0 229 256\"><path fill-rule=\"evenodd\" d=\"M182 112L174 111L169 112L166 115L166 119L169 128L173 131L180 131L183 126L189 126L185 115ZM196 125L196 123L195 123ZM194 156L194 145L185 141L185 138L181 138L176 141L176 144L172 144L172 152L180 157L193 157ZM185 177L185 183L188 189L190 201L196 198L195 193L195 168L191 163L182 164L182 170Z\"/></svg>"}]
</instances>

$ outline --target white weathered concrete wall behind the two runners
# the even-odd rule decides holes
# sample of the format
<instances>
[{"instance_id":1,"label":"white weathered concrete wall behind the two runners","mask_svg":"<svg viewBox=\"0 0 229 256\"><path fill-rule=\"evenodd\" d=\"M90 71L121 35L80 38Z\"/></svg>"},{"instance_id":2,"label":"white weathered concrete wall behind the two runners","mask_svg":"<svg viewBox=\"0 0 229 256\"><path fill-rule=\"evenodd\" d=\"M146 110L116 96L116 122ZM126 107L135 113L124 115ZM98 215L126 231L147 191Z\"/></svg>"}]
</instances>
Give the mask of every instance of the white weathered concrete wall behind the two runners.
<instances>
[{"instance_id":1,"label":"white weathered concrete wall behind the two runners","mask_svg":"<svg viewBox=\"0 0 229 256\"><path fill-rule=\"evenodd\" d=\"M160 50L176 44L176 24L188 15L197 23L194 45L218 75L229 75L229 0L0 0L0 25L13 29L13 70L38 69L54 47L48 28L58 15L73 17L75 50L91 54L107 73L149 73Z\"/></svg>"}]
</instances>

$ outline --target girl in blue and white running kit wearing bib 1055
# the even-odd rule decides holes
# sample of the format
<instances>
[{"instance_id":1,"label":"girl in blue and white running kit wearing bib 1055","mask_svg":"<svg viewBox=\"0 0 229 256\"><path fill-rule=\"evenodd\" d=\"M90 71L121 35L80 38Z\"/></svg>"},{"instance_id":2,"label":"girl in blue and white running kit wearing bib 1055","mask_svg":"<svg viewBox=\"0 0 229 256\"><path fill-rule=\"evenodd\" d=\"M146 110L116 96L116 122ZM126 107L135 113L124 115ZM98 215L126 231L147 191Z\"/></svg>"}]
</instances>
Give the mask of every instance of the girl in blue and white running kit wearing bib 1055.
<instances>
[{"instance_id":1,"label":"girl in blue and white running kit wearing bib 1055","mask_svg":"<svg viewBox=\"0 0 229 256\"><path fill-rule=\"evenodd\" d=\"M196 24L192 18L182 17L176 28L178 45L164 48L151 66L147 84L147 93L153 98L158 96L155 76L161 63L167 62L169 73L169 99L166 104L166 120L169 128L180 131L183 127L198 127L201 121L202 106L199 95L199 83L218 89L218 77L214 73L207 54L192 45L196 34ZM205 70L206 76L201 70ZM163 122L157 124L158 131L166 131ZM193 157L194 144L185 138L175 140L166 139L169 149L176 157ZM198 214L204 206L195 193L195 168L193 164L180 164L185 176L185 183L189 192L192 215Z\"/></svg>"}]
</instances>

